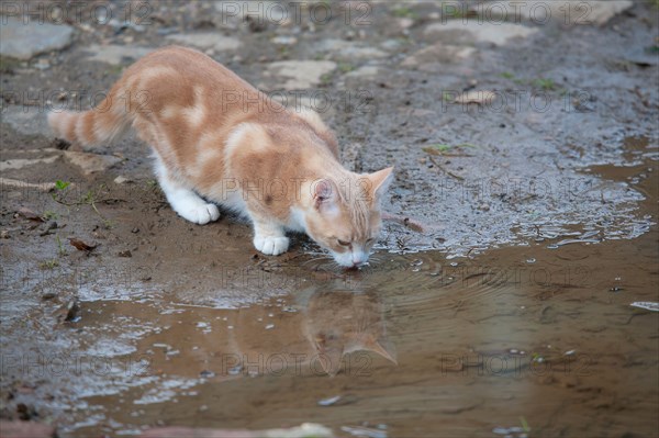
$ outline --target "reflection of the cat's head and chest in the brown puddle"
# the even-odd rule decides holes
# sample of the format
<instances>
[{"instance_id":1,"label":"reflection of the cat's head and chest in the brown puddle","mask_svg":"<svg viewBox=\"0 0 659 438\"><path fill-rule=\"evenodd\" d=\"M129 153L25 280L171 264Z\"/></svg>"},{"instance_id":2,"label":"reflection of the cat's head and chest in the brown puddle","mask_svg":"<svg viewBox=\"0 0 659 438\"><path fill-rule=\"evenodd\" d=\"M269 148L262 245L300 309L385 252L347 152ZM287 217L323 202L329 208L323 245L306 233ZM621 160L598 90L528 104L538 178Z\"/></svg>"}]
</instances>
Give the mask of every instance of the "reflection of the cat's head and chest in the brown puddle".
<instances>
[{"instance_id":1,"label":"reflection of the cat's head and chest in the brown puddle","mask_svg":"<svg viewBox=\"0 0 659 438\"><path fill-rule=\"evenodd\" d=\"M221 373L334 375L342 363L344 372L368 372L367 355L346 356L356 351L375 352L395 363L378 294L300 292L298 302L294 313L273 307L238 311Z\"/></svg>"}]
</instances>

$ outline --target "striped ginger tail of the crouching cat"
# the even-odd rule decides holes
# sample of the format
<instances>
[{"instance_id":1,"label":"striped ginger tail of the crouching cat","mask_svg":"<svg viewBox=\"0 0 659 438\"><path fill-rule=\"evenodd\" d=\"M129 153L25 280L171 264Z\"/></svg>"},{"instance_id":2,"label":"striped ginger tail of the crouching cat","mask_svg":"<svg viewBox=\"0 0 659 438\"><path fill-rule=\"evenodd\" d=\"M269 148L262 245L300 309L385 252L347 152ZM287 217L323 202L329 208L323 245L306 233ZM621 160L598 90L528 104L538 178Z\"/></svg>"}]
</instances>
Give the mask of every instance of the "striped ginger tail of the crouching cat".
<instances>
[{"instance_id":1,"label":"striped ginger tail of the crouching cat","mask_svg":"<svg viewBox=\"0 0 659 438\"><path fill-rule=\"evenodd\" d=\"M131 125L132 117L123 102L119 87L114 87L92 110L51 112L48 124L57 137L74 144L93 146L110 142Z\"/></svg>"}]
</instances>

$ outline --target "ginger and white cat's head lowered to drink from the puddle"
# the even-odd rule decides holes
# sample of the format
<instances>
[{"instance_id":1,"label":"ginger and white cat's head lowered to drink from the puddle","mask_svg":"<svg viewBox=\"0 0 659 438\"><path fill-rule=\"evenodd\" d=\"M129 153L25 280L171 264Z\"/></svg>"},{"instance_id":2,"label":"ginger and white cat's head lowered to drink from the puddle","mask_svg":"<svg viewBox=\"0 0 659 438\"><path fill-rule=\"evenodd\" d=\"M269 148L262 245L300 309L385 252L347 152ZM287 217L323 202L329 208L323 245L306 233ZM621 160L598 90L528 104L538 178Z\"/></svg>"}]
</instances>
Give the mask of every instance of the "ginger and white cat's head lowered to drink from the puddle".
<instances>
[{"instance_id":1,"label":"ginger and white cat's head lowered to drink from the puddle","mask_svg":"<svg viewBox=\"0 0 659 438\"><path fill-rule=\"evenodd\" d=\"M382 226L380 200L393 179L392 170L324 178L311 184L306 233L338 265L353 268L368 261Z\"/></svg>"}]
</instances>

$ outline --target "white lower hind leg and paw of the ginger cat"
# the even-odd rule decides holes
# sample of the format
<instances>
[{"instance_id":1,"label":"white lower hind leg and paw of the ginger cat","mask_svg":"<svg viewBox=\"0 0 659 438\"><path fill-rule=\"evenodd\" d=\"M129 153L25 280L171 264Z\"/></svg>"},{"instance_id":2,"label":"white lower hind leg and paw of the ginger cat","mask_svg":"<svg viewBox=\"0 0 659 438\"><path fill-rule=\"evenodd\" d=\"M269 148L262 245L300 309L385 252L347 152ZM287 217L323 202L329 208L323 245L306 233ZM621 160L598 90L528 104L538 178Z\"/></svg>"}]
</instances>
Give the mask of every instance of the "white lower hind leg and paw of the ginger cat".
<instances>
[{"instance_id":1,"label":"white lower hind leg and paw of the ginger cat","mask_svg":"<svg viewBox=\"0 0 659 438\"><path fill-rule=\"evenodd\" d=\"M208 224L220 218L217 205L205 202L193 190L171 177L169 170L156 154L156 176L171 209L181 217L196 224Z\"/></svg>"}]
</instances>

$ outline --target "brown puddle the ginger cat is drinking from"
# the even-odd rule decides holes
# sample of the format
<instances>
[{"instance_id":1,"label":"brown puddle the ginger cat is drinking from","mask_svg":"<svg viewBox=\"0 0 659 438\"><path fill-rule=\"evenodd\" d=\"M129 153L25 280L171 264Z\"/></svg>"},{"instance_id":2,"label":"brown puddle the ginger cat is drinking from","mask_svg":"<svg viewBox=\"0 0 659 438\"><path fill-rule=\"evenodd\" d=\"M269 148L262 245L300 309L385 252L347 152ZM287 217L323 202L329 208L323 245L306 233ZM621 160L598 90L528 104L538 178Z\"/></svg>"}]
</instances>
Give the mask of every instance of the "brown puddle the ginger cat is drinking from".
<instances>
[{"instance_id":1,"label":"brown puddle the ginger cat is drinking from","mask_svg":"<svg viewBox=\"0 0 659 438\"><path fill-rule=\"evenodd\" d=\"M78 323L24 357L47 352L42 368L5 370L56 382L44 384L58 391L45 405L63 413L71 437L155 425L270 428L281 418L378 437L487 436L521 428L521 417L540 436L643 433L636 422L651 425L657 407L648 381L657 314L630 304L656 300L657 233L635 242L538 244L456 261L382 254L362 272L305 279L297 292L239 308L169 293L83 301ZM282 272L277 280L290 281ZM619 294L610 292L616 284ZM68 362L56 369L58 350Z\"/></svg>"}]
</instances>

